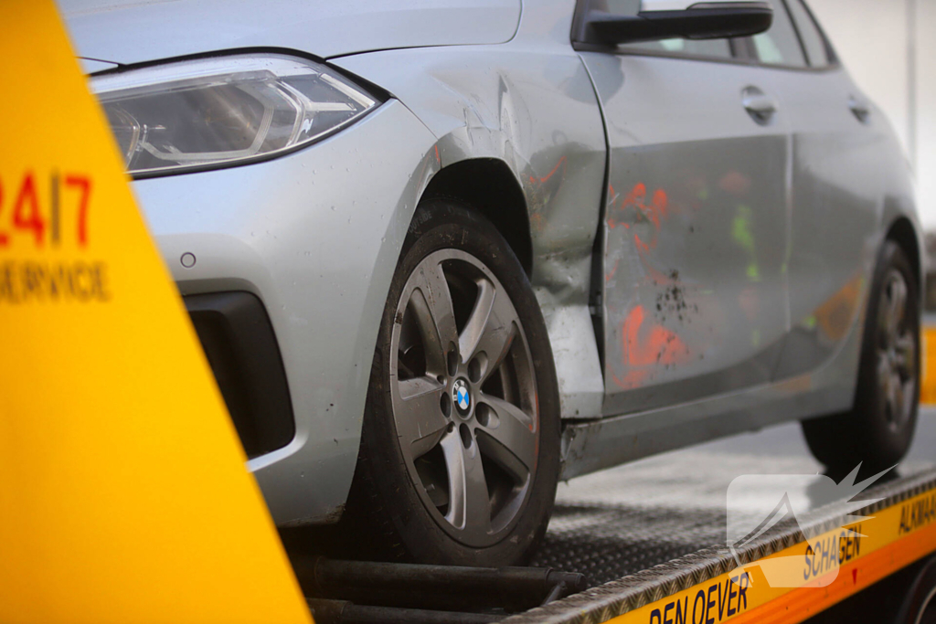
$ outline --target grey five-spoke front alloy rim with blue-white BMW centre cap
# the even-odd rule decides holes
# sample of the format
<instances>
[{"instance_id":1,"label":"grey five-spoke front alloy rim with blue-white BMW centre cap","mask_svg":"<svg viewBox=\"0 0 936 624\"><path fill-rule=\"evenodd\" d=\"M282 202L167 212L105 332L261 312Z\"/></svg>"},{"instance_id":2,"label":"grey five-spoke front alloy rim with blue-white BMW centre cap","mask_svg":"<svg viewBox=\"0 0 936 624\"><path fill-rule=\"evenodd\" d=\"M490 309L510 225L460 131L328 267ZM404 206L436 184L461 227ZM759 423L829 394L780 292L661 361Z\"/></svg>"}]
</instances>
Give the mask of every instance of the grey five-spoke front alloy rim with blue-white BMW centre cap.
<instances>
[{"instance_id":1,"label":"grey five-spoke front alloy rim with blue-white BMW centre cap","mask_svg":"<svg viewBox=\"0 0 936 624\"><path fill-rule=\"evenodd\" d=\"M496 543L529 500L540 433L533 357L504 286L471 254L429 254L403 287L390 354L420 499L462 544Z\"/></svg>"}]
</instances>

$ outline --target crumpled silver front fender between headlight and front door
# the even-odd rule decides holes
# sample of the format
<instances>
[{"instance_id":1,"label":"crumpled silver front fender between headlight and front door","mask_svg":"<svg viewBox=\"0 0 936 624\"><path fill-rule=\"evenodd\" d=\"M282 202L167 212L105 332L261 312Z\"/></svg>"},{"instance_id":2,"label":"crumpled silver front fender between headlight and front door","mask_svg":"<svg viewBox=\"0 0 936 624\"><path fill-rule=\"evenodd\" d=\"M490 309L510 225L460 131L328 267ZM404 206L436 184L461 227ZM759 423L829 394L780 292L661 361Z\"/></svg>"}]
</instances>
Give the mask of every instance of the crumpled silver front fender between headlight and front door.
<instances>
[{"instance_id":1,"label":"crumpled silver front fender between headlight and front door","mask_svg":"<svg viewBox=\"0 0 936 624\"><path fill-rule=\"evenodd\" d=\"M437 138L442 167L484 157L510 167L529 212L530 280L563 416L594 417L604 392L589 286L606 146L592 82L569 46L570 5L527 3L517 35L503 46L382 51L333 63L413 110Z\"/></svg>"}]
</instances>

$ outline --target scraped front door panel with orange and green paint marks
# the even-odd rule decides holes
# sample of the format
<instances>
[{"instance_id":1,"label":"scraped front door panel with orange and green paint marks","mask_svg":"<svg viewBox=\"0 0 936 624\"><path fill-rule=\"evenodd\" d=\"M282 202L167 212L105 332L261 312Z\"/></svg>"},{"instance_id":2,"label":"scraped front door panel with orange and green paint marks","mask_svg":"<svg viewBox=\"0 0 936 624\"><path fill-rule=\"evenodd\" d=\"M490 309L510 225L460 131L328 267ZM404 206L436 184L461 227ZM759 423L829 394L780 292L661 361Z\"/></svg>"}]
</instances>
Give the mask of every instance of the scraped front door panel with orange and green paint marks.
<instances>
[{"instance_id":1,"label":"scraped front door panel with orange and green paint marks","mask_svg":"<svg viewBox=\"0 0 936 624\"><path fill-rule=\"evenodd\" d=\"M584 52L610 146L605 414L768 382L786 334L788 124L758 67Z\"/></svg>"}]
</instances>

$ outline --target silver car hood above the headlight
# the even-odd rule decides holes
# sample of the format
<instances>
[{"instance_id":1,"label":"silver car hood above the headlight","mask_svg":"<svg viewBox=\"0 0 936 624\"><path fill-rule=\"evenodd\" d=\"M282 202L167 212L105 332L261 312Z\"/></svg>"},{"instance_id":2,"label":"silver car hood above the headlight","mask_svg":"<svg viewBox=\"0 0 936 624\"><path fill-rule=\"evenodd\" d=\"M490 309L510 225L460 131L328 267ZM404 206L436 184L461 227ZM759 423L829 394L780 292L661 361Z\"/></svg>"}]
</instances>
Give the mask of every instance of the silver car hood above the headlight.
<instances>
[{"instance_id":1,"label":"silver car hood above the headlight","mask_svg":"<svg viewBox=\"0 0 936 624\"><path fill-rule=\"evenodd\" d=\"M78 54L121 65L241 48L320 58L503 43L521 0L59 0Z\"/></svg>"}]
</instances>

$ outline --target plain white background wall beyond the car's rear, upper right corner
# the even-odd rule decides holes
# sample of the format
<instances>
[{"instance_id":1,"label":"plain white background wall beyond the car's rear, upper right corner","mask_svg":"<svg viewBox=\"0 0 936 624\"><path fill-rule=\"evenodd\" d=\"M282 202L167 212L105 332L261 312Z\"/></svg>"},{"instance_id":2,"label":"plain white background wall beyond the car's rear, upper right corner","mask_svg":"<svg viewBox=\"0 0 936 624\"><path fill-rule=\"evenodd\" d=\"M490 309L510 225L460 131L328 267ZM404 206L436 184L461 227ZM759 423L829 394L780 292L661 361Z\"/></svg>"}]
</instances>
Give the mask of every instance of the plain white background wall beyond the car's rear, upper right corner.
<instances>
[{"instance_id":1,"label":"plain white background wall beyond the car's rear, upper right corner","mask_svg":"<svg viewBox=\"0 0 936 624\"><path fill-rule=\"evenodd\" d=\"M920 218L936 231L936 0L807 2L858 86L894 124L915 166Z\"/></svg>"}]
</instances>

